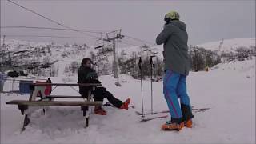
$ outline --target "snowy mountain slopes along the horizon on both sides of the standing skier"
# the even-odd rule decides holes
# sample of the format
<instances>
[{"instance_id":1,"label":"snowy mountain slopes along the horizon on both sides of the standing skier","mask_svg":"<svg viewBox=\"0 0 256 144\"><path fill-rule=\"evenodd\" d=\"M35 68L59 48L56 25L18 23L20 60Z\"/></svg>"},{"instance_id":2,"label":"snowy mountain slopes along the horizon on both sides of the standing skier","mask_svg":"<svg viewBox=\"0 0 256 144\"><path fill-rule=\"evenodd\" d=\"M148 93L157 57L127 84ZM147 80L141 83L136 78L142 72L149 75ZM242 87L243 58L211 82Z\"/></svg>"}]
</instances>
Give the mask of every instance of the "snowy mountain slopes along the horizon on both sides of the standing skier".
<instances>
[{"instance_id":1,"label":"snowy mountain slopes along the horizon on both sides of the standing skier","mask_svg":"<svg viewBox=\"0 0 256 144\"><path fill-rule=\"evenodd\" d=\"M2 41L3 39L1 39L1 43ZM235 52L240 47L254 50L254 53L256 50L255 38L237 38L219 42L208 42L198 45L198 47L213 51L220 50L219 55L223 52ZM85 57L90 57L95 62L98 62L98 66L95 66L95 69L97 69L99 74L112 73L113 50L111 46L95 49L94 46L86 46L86 44L58 45L54 43L35 43L6 39L5 46L1 46L1 50L2 57L0 58L0 63L3 62L6 66L11 64L12 67L21 67L23 69L30 68L30 73L42 74L43 76L62 75L64 73L72 75L68 74L71 67L78 67L82 58ZM119 47L118 57L122 59L123 65L127 65L126 61L131 59L135 59L134 63L138 63L138 57L148 61L150 55L157 56L158 63L162 63L162 50L162 46ZM230 59L230 56L226 55L226 58L222 58L222 61L228 61L225 59ZM40 68L44 68L44 70ZM123 69L126 69L126 67L123 67Z\"/></svg>"}]
</instances>

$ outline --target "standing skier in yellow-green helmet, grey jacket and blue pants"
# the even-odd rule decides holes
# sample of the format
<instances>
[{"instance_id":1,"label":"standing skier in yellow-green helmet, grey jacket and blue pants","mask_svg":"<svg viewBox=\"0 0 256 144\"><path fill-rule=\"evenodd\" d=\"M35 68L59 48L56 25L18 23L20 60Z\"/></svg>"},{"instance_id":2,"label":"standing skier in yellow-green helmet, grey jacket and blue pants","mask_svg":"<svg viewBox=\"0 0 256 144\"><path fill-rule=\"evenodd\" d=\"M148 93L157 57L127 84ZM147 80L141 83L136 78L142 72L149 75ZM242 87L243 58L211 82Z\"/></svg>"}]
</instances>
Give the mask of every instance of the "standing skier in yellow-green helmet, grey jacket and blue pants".
<instances>
[{"instance_id":1,"label":"standing skier in yellow-green helmet, grey jacket and blue pants","mask_svg":"<svg viewBox=\"0 0 256 144\"><path fill-rule=\"evenodd\" d=\"M192 109L190 98L186 92L186 76L190 70L188 55L188 34L186 24L179 21L179 14L170 11L164 20L166 24L156 43L163 44L165 76L163 93L170 110L171 120L162 125L162 130L181 130L182 127L192 127ZM178 102L180 98L180 103Z\"/></svg>"}]
</instances>

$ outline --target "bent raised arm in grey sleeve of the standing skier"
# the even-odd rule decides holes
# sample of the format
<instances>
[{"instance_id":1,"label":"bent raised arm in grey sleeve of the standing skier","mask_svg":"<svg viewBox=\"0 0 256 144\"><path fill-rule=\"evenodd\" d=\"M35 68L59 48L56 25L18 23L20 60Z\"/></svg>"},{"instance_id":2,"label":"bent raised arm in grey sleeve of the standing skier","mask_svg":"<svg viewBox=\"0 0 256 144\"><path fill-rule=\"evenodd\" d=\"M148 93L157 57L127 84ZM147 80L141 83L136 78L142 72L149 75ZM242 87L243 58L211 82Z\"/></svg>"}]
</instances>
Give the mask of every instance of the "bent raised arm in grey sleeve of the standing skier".
<instances>
[{"instance_id":1,"label":"bent raised arm in grey sleeve of the standing skier","mask_svg":"<svg viewBox=\"0 0 256 144\"><path fill-rule=\"evenodd\" d=\"M173 33L174 33L174 26L169 26L169 25L165 26L162 32L158 34L158 37L156 38L156 43L158 45L161 45L162 43L166 42L166 40Z\"/></svg>"}]
</instances>

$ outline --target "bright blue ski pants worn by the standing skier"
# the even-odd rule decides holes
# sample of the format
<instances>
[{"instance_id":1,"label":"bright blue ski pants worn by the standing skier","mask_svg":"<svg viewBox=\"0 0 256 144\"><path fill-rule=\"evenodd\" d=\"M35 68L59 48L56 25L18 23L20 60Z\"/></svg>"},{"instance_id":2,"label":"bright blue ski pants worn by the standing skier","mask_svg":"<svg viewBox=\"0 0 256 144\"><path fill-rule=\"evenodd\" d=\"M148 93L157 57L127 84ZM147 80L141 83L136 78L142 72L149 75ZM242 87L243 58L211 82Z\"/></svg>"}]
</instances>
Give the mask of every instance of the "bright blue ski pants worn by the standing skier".
<instances>
[{"instance_id":1,"label":"bright blue ski pants worn by the standing skier","mask_svg":"<svg viewBox=\"0 0 256 144\"><path fill-rule=\"evenodd\" d=\"M166 70L163 79L163 94L165 95L171 118L182 118L181 106L178 102L190 107L190 98L186 93L186 75Z\"/></svg>"}]
</instances>

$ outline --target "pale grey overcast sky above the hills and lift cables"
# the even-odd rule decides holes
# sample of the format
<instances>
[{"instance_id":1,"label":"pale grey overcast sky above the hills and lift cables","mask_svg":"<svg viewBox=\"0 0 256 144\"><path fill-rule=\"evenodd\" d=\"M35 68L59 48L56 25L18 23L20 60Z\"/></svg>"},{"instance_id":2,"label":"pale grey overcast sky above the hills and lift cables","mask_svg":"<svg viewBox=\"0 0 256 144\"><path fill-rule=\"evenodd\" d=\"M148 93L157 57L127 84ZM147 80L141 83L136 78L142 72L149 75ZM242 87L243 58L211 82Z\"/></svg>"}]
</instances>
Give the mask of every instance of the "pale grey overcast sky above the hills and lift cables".
<instances>
[{"instance_id":1,"label":"pale grey overcast sky above the hills and lift cables","mask_svg":"<svg viewBox=\"0 0 256 144\"><path fill-rule=\"evenodd\" d=\"M255 38L254 0L200 0L200 1L86 1L86 0L19 0L14 1L47 18L78 30L122 29L122 34L155 43L162 30L164 15L177 10L186 23L189 44L202 44L229 38ZM1 0L1 26L58 26L30 11ZM81 34L74 31L1 28L2 35L55 35L100 38L100 34ZM105 34L102 34L102 37ZM10 38L6 36L6 38ZM36 42L89 43L95 39L78 38L26 38L15 39ZM125 37L123 42L142 44Z\"/></svg>"}]
</instances>

